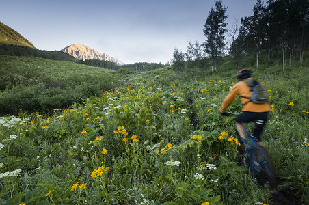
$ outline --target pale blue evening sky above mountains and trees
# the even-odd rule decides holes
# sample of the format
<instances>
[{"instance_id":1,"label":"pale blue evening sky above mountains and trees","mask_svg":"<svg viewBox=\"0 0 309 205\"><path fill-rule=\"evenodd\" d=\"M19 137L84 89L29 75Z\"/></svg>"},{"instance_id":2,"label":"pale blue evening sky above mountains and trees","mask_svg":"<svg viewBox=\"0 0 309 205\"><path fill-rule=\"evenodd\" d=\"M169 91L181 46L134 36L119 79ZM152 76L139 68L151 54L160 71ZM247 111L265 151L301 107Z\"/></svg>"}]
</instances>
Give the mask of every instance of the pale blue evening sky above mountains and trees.
<instances>
[{"instance_id":1,"label":"pale blue evening sky above mountains and trees","mask_svg":"<svg viewBox=\"0 0 309 205\"><path fill-rule=\"evenodd\" d=\"M252 16L256 0L222 0L228 28ZM84 44L123 61L170 62L174 49L202 44L215 0L0 0L0 21L37 49ZM226 35L226 42L229 41Z\"/></svg>"}]
</instances>

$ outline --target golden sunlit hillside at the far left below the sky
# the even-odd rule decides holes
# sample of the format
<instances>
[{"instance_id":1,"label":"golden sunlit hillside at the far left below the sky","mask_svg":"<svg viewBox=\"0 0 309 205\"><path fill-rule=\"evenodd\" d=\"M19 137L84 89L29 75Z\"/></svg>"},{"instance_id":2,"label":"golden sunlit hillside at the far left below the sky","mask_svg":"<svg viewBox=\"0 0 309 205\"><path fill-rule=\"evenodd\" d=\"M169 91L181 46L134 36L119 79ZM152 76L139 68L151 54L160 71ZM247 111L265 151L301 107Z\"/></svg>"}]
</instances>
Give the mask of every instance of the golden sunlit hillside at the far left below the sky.
<instances>
[{"instance_id":1,"label":"golden sunlit hillside at the far left below the sky","mask_svg":"<svg viewBox=\"0 0 309 205\"><path fill-rule=\"evenodd\" d=\"M0 22L0 44L1 43L34 48L33 44L20 33Z\"/></svg>"}]
</instances>

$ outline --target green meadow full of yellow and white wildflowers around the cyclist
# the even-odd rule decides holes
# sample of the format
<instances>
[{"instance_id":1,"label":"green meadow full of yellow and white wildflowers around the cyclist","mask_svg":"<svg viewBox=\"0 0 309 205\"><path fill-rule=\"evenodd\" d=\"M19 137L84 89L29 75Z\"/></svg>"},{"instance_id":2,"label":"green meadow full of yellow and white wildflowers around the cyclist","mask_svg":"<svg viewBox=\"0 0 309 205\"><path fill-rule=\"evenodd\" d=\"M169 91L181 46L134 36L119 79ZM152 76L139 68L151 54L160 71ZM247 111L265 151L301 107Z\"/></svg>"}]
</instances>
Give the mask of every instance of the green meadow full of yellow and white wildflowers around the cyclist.
<instances>
[{"instance_id":1,"label":"green meadow full of yellow and white wildflowers around the cyclist","mask_svg":"<svg viewBox=\"0 0 309 205\"><path fill-rule=\"evenodd\" d=\"M0 62L0 204L274 204L236 161L234 117L219 114L232 61L134 73ZM248 68L271 96L263 141L277 191L309 203L308 60Z\"/></svg>"}]
</instances>

